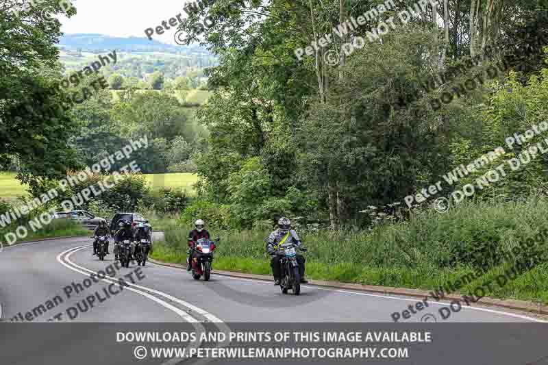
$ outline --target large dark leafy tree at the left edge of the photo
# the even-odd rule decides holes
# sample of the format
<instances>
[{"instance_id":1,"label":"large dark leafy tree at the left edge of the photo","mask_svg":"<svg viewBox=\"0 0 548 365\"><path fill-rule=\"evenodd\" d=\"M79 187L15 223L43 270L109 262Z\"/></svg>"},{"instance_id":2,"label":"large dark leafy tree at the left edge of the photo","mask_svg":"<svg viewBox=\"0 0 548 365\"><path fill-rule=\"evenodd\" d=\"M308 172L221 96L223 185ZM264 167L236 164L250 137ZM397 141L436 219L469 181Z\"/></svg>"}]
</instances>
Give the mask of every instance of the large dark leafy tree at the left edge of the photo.
<instances>
[{"instance_id":1,"label":"large dark leafy tree at the left edge of the photo","mask_svg":"<svg viewBox=\"0 0 548 365\"><path fill-rule=\"evenodd\" d=\"M36 192L44 181L79 167L69 144L77 125L67 113L66 95L54 85L61 78L55 47L60 23L49 21L75 9L65 12L59 1L45 0L17 15L17 3L0 5L0 168L15 156L18 179Z\"/></svg>"}]
</instances>

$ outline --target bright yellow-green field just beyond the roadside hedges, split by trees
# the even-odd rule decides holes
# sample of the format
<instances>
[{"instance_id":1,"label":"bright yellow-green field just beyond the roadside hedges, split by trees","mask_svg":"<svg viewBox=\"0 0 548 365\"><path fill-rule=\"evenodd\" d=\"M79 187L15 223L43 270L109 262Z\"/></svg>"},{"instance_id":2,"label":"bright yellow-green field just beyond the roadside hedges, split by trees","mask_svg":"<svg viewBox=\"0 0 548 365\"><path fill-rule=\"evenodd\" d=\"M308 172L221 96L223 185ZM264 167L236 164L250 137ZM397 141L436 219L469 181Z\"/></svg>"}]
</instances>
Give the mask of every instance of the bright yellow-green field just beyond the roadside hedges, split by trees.
<instances>
[{"instance_id":1,"label":"bright yellow-green field just beyond the roadside hedges, split by trees","mask_svg":"<svg viewBox=\"0 0 548 365\"><path fill-rule=\"evenodd\" d=\"M25 194L25 186L15 179L14 173L0 173L0 198L13 200ZM183 188L192 194L192 184L198 180L196 174L174 173L174 174L149 174L143 175L149 181L152 188L157 190L161 187Z\"/></svg>"}]
</instances>

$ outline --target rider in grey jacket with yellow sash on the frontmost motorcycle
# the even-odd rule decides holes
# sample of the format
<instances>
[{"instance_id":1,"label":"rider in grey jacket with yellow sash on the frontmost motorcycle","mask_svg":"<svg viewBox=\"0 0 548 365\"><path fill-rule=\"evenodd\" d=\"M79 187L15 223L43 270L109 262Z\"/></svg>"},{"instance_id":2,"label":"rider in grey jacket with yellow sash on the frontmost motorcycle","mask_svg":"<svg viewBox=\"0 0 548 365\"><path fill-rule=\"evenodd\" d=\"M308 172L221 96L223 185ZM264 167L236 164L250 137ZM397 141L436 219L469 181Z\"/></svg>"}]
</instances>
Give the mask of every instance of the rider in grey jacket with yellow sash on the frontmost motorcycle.
<instances>
[{"instance_id":1,"label":"rider in grey jacket with yellow sash on the frontmost motorcycle","mask_svg":"<svg viewBox=\"0 0 548 365\"><path fill-rule=\"evenodd\" d=\"M278 245L281 243L292 243L295 246L301 246L301 239L293 229L291 229L291 221L282 216L278 221L278 229L273 231L268 240L266 241L266 251L271 255L270 266L272 267L272 273L274 275L274 285L279 285L280 279L280 270L279 270L279 260L282 258L278 253ZM303 255L297 254L297 262L299 263L299 273L301 274L301 283L306 284L308 280L304 278L306 262Z\"/></svg>"}]
</instances>

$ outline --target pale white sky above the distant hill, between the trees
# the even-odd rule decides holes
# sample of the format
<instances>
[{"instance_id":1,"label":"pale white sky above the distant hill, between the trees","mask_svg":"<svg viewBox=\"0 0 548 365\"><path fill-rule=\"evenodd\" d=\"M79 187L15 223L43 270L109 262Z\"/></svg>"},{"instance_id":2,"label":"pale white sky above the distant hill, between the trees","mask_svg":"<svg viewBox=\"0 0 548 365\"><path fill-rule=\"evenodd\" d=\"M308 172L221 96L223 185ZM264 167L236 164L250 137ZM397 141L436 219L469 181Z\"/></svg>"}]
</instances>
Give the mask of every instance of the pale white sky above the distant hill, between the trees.
<instances>
[{"instance_id":1,"label":"pale white sky above the distant hill, between the trees","mask_svg":"<svg viewBox=\"0 0 548 365\"><path fill-rule=\"evenodd\" d=\"M64 34L95 33L107 36L145 38L145 29L162 25L183 10L183 0L73 0L77 14L71 18L60 16ZM160 42L175 44L175 27L164 34L153 34Z\"/></svg>"}]
</instances>

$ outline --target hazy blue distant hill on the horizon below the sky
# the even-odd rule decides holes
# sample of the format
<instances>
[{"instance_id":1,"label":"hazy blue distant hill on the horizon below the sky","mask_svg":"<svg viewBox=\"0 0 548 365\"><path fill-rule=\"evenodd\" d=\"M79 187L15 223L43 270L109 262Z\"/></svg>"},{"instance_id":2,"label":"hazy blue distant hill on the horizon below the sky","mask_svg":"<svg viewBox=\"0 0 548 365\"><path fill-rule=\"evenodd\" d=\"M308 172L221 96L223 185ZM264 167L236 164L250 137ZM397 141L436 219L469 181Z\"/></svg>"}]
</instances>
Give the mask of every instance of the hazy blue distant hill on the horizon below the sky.
<instances>
[{"instance_id":1,"label":"hazy blue distant hill on the horizon below the sky","mask_svg":"<svg viewBox=\"0 0 548 365\"><path fill-rule=\"evenodd\" d=\"M60 49L66 51L100 52L100 51L126 51L126 52L164 52L179 53L186 55L210 55L211 53L199 46L176 46L158 42L158 40L148 40L140 37L112 37L103 34L65 34L60 38Z\"/></svg>"}]
</instances>

